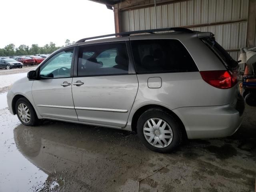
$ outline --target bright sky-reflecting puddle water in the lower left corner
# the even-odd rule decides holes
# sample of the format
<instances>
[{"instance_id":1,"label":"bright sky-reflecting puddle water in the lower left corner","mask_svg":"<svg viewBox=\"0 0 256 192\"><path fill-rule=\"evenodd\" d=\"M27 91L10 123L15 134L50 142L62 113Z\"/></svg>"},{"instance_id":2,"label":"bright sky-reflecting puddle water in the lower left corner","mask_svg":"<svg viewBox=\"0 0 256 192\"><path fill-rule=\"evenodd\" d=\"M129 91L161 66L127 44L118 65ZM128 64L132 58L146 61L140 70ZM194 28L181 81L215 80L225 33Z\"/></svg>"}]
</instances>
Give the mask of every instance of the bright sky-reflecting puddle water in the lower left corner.
<instances>
[{"instance_id":1,"label":"bright sky-reflecting puddle water in the lower left corner","mask_svg":"<svg viewBox=\"0 0 256 192\"><path fill-rule=\"evenodd\" d=\"M0 116L0 191L32 192L43 188L48 174L17 150L13 138L13 129L20 124L17 116L10 115L7 109L0 110Z\"/></svg>"}]
</instances>

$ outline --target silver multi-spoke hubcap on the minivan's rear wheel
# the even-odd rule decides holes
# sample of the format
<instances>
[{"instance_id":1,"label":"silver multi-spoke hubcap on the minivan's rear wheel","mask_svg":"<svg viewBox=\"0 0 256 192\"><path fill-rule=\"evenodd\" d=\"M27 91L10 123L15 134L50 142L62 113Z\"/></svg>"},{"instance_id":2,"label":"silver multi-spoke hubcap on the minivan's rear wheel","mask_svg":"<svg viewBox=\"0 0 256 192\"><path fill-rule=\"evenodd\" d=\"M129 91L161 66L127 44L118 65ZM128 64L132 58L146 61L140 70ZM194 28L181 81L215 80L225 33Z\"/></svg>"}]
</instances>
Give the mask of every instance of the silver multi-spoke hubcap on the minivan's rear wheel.
<instances>
[{"instance_id":1,"label":"silver multi-spoke hubcap on the minivan's rear wheel","mask_svg":"<svg viewBox=\"0 0 256 192\"><path fill-rule=\"evenodd\" d=\"M152 146L163 148L172 142L172 128L160 118L150 118L143 126L143 133Z\"/></svg>"}]
</instances>

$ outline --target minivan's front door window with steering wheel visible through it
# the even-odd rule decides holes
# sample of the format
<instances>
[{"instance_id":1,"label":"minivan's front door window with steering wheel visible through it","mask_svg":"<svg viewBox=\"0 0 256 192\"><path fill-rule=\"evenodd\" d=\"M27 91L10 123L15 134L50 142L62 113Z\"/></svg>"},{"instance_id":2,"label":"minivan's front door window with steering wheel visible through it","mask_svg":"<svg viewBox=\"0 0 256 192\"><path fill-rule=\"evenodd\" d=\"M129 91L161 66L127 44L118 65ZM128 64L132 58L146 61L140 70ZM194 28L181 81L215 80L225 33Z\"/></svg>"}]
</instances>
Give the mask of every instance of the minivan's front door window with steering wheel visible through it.
<instances>
[{"instance_id":1,"label":"minivan's front door window with steering wheel visible through it","mask_svg":"<svg viewBox=\"0 0 256 192\"><path fill-rule=\"evenodd\" d=\"M73 50L58 52L40 67L41 78L63 78L71 76Z\"/></svg>"}]
</instances>

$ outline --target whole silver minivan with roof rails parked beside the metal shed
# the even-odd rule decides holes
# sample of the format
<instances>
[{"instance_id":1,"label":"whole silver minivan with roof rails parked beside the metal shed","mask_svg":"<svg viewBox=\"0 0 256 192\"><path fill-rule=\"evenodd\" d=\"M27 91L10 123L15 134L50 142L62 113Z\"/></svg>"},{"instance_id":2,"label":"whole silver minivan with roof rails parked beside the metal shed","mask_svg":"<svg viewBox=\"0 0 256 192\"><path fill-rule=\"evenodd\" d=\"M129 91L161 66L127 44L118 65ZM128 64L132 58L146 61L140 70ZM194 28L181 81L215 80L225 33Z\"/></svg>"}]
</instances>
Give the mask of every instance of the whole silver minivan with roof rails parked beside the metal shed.
<instances>
[{"instance_id":1,"label":"whole silver minivan with roof rails parked beside the metal shed","mask_svg":"<svg viewBox=\"0 0 256 192\"><path fill-rule=\"evenodd\" d=\"M94 38L113 35L52 53L10 88L10 112L27 126L50 119L134 131L157 152L184 138L236 132L244 111L238 62L212 33L167 28Z\"/></svg>"}]
</instances>

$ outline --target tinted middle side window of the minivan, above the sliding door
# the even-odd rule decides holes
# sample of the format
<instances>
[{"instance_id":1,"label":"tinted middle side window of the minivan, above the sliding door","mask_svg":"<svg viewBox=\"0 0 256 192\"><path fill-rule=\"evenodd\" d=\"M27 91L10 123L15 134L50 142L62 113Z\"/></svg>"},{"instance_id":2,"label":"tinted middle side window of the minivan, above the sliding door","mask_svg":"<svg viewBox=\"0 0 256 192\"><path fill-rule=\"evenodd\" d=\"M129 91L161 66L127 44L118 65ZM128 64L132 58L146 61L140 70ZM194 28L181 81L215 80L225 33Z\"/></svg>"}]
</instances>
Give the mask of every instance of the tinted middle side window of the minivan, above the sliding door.
<instances>
[{"instance_id":1,"label":"tinted middle side window of the minivan, above the sliding door","mask_svg":"<svg viewBox=\"0 0 256 192\"><path fill-rule=\"evenodd\" d=\"M80 47L78 76L128 74L125 42Z\"/></svg>"}]
</instances>

